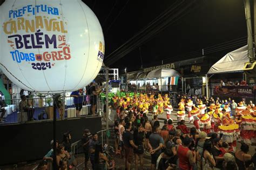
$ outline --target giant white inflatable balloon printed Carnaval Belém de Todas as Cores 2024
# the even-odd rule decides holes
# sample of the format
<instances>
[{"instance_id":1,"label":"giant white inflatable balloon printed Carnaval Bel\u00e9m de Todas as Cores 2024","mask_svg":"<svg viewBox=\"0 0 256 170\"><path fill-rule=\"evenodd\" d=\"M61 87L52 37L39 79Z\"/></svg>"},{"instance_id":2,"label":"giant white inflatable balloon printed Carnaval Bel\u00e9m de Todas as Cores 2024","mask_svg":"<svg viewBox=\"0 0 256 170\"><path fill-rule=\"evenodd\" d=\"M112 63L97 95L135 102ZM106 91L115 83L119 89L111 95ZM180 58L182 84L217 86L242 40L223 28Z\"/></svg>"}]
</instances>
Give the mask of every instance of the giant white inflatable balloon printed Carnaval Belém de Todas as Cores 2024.
<instances>
[{"instance_id":1,"label":"giant white inflatable balloon printed Carnaval Bel\u00e9m de Todas as Cores 2024","mask_svg":"<svg viewBox=\"0 0 256 170\"><path fill-rule=\"evenodd\" d=\"M0 67L22 89L77 90L102 66L102 28L80 0L6 0L0 24Z\"/></svg>"}]
</instances>

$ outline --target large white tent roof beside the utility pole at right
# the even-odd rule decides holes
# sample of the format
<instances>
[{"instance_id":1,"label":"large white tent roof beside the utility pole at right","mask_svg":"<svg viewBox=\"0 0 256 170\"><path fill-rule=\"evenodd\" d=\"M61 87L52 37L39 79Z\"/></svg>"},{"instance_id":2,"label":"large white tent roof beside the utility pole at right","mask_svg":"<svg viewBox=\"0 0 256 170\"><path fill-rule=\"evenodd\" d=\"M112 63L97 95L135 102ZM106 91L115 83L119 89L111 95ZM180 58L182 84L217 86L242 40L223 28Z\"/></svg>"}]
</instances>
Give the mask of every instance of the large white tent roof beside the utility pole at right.
<instances>
[{"instance_id":1,"label":"large white tent roof beside the utility pole at right","mask_svg":"<svg viewBox=\"0 0 256 170\"><path fill-rule=\"evenodd\" d=\"M242 71L246 62L249 62L247 45L227 53L217 63L211 66L207 74Z\"/></svg>"}]
</instances>

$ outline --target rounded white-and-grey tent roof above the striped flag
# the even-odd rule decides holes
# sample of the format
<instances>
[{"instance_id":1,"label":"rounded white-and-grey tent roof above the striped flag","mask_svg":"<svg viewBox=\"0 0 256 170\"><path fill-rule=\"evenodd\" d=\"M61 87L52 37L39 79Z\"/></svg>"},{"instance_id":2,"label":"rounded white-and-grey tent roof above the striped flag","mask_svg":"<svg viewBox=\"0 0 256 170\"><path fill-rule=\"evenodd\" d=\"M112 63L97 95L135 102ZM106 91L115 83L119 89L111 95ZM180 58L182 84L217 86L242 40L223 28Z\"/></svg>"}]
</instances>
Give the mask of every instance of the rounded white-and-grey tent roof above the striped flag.
<instances>
[{"instance_id":1,"label":"rounded white-and-grey tent roof above the striped flag","mask_svg":"<svg viewBox=\"0 0 256 170\"><path fill-rule=\"evenodd\" d=\"M146 78L160 78L160 77L174 77L174 76L180 76L179 72L174 69L157 69L152 70L149 72L146 76Z\"/></svg>"}]
</instances>

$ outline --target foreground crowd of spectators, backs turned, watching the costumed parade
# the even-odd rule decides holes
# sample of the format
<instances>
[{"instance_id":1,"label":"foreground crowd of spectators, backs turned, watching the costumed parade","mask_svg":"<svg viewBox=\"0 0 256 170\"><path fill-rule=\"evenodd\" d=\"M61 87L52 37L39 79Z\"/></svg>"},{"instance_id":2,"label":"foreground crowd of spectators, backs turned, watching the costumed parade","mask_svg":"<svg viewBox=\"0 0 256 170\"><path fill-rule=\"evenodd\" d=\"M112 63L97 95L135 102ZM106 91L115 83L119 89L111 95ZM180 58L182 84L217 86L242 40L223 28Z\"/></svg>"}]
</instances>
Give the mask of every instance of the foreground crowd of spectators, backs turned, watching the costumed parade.
<instances>
[{"instance_id":1,"label":"foreground crowd of spectators, backs turned, watching the costumed parade","mask_svg":"<svg viewBox=\"0 0 256 170\"><path fill-rule=\"evenodd\" d=\"M122 112L122 111L121 111ZM151 154L151 169L246 169L256 155L248 153L244 142L235 150L225 141L224 133L186 127L185 120L172 124L165 120L160 127L158 115L149 122L146 113L129 111L115 121L116 153L125 158L125 168L143 169L143 154ZM245 164L244 164L245 163Z\"/></svg>"}]
</instances>

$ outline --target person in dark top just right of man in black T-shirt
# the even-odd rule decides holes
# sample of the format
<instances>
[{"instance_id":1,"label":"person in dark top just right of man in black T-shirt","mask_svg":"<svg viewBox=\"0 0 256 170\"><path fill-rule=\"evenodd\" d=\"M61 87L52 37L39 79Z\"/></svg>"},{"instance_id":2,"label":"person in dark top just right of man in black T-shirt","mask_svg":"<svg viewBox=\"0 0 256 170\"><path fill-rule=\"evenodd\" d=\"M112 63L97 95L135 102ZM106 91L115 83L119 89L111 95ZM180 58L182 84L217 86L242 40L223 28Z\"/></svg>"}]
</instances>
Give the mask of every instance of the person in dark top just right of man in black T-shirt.
<instances>
[{"instance_id":1,"label":"person in dark top just right of man in black T-shirt","mask_svg":"<svg viewBox=\"0 0 256 170\"><path fill-rule=\"evenodd\" d=\"M140 169L143 169L143 153L144 147L143 142L145 139L145 133L142 127L142 124L138 124L137 130L133 133L134 136L134 144L138 146L138 149L134 149L135 154L135 168L138 170L138 162L140 162Z\"/></svg>"}]
</instances>

